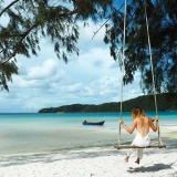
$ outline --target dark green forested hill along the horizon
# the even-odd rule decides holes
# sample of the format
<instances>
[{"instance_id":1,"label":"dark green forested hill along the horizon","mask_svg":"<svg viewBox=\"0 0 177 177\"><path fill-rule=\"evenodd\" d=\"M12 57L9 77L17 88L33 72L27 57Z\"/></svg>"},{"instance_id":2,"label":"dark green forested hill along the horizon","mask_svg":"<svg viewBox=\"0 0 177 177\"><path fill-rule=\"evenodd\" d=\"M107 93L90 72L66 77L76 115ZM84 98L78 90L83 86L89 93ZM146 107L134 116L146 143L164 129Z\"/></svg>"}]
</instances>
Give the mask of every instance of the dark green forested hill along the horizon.
<instances>
[{"instance_id":1,"label":"dark green forested hill along the horizon","mask_svg":"<svg viewBox=\"0 0 177 177\"><path fill-rule=\"evenodd\" d=\"M177 111L177 93L157 94L158 111ZM155 111L154 95L138 96L123 102L123 112L129 112L133 107L140 106L145 111ZM42 108L39 113L73 113L73 112L119 112L119 102L104 104L72 104L59 107Z\"/></svg>"}]
</instances>

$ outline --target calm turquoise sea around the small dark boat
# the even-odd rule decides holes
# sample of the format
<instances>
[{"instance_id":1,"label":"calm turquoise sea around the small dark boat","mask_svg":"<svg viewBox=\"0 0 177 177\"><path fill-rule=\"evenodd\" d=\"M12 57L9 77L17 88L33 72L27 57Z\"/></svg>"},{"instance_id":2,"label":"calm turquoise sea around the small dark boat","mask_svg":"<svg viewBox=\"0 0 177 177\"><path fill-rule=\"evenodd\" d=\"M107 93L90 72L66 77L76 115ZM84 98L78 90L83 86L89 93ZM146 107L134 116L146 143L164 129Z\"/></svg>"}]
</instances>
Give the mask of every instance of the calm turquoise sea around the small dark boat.
<instances>
[{"instance_id":1,"label":"calm turquoise sea around the small dark boat","mask_svg":"<svg viewBox=\"0 0 177 177\"><path fill-rule=\"evenodd\" d=\"M147 112L154 117L154 112ZM177 125L177 112L159 112L159 126ZM104 126L82 122L105 121ZM117 144L119 113L0 114L0 155L53 153ZM123 113L127 125L131 113ZM122 132L126 140L134 135ZM124 140L123 139L123 140Z\"/></svg>"}]
</instances>

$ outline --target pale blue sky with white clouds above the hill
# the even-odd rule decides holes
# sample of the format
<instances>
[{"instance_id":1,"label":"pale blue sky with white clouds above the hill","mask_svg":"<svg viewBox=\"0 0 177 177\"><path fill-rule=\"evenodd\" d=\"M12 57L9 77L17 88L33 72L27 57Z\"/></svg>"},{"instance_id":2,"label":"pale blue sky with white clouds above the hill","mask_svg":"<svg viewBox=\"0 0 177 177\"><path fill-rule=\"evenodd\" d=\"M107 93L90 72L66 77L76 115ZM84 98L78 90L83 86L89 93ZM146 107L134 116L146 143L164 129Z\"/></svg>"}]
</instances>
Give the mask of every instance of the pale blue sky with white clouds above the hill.
<instances>
[{"instance_id":1,"label":"pale blue sky with white clouds above the hill","mask_svg":"<svg viewBox=\"0 0 177 177\"><path fill-rule=\"evenodd\" d=\"M0 21L3 22L3 21ZM70 104L119 102L122 72L103 42L104 28L92 39L102 23L83 28L80 22L80 55L69 62L59 60L48 39L40 42L38 56L17 56L19 75L8 83L10 92L0 91L0 113L38 113L41 108ZM139 74L124 86L123 100L142 95Z\"/></svg>"}]
</instances>

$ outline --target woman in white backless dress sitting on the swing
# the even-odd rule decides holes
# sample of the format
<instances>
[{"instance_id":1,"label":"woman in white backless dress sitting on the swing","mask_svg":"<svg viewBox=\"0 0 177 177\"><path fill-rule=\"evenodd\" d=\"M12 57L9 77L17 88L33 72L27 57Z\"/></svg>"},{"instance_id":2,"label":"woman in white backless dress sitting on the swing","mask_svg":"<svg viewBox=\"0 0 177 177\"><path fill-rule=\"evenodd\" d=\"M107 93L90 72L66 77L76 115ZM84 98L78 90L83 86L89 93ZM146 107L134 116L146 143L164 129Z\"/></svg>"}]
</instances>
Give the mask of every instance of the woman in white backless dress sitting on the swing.
<instances>
[{"instance_id":1,"label":"woman in white backless dress sitting on the swing","mask_svg":"<svg viewBox=\"0 0 177 177\"><path fill-rule=\"evenodd\" d=\"M149 127L156 132L157 131L157 122L158 116L155 117L155 123L153 123L153 119L145 116L144 111L140 107L135 107L132 111L133 115L133 125L132 127L127 127L122 119L119 119L119 124L123 125L123 127L132 134L134 129L136 128L136 136L132 143L132 146L138 146L138 147L147 147L150 145L150 138L149 138ZM127 153L127 156L125 158L125 162L128 163L129 156L134 153L134 149L131 149ZM135 163L139 164L139 160L143 158L143 148L137 148L137 159Z\"/></svg>"}]
</instances>

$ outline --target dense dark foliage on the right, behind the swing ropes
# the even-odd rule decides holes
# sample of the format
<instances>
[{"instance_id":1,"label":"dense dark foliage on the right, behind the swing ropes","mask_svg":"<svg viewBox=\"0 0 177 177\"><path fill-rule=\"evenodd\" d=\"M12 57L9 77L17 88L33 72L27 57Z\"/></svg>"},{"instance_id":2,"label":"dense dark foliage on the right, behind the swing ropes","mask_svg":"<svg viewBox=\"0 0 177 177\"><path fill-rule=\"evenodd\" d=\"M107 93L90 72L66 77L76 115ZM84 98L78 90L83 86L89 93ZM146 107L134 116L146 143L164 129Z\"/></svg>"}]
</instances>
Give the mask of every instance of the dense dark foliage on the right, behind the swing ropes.
<instances>
[{"instance_id":1,"label":"dense dark foliage on the right, behind the swing ropes","mask_svg":"<svg viewBox=\"0 0 177 177\"><path fill-rule=\"evenodd\" d=\"M125 32L125 84L134 81L134 74L142 74L140 86L152 93L152 67L148 52L145 8L147 11L153 67L157 93L177 92L177 1L176 0L129 0L127 1ZM111 55L119 60L119 44L123 41L124 15L113 11L112 23L106 24L105 43L111 44Z\"/></svg>"}]
</instances>

